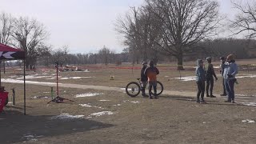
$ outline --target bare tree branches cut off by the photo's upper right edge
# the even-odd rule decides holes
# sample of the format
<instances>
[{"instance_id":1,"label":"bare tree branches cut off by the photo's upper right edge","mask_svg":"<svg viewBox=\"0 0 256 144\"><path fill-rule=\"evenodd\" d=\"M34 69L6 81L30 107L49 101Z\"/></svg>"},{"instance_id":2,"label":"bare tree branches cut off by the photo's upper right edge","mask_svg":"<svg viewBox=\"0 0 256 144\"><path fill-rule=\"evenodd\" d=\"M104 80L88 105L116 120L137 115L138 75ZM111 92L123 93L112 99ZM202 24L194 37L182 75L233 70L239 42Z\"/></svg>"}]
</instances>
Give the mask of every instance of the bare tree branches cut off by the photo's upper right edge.
<instances>
[{"instance_id":1,"label":"bare tree branches cut off by the photo's upper right edge","mask_svg":"<svg viewBox=\"0 0 256 144\"><path fill-rule=\"evenodd\" d=\"M231 27L234 30L234 34L246 33L247 38L256 37L256 1L242 3L242 1L232 1L233 6L238 10L238 14L234 21L232 21Z\"/></svg>"}]
</instances>

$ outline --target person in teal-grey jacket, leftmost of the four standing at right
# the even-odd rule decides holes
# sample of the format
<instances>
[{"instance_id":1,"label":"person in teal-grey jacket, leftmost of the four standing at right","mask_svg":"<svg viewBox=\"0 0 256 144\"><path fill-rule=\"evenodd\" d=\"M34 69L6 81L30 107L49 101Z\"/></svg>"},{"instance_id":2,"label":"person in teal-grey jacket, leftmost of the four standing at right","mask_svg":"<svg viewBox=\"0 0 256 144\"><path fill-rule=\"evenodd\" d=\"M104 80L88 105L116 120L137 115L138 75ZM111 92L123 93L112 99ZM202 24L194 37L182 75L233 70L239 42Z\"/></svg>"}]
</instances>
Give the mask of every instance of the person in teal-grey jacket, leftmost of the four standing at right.
<instances>
[{"instance_id":1,"label":"person in teal-grey jacket, leftmost of the four standing at right","mask_svg":"<svg viewBox=\"0 0 256 144\"><path fill-rule=\"evenodd\" d=\"M198 66L195 70L196 83L198 85L197 102L206 103L204 100L206 74L205 74L205 70L203 69L202 59L197 60L197 65ZM200 99L200 96L201 96L201 99Z\"/></svg>"}]
</instances>

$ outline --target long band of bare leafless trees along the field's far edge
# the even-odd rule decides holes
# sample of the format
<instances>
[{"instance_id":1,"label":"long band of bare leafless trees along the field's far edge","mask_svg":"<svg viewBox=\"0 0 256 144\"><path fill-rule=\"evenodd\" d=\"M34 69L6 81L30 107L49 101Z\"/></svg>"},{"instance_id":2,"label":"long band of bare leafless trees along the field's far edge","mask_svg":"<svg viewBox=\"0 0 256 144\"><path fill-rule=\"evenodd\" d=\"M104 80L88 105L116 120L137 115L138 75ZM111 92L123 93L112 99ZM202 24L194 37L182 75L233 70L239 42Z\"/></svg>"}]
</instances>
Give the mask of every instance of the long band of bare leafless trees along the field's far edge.
<instances>
[{"instance_id":1,"label":"long band of bare leafless trees along the field's far edge","mask_svg":"<svg viewBox=\"0 0 256 144\"><path fill-rule=\"evenodd\" d=\"M256 2L232 1L238 14L234 19L219 13L217 0L145 0L142 6L130 7L117 19L115 28L123 38L121 54L103 46L96 53L70 54L69 46L53 49L46 43L49 32L36 19L10 14L0 15L0 42L21 48L29 65L182 62L211 56L235 54L237 58L254 58ZM223 26L223 23L227 24ZM226 30L231 37L220 37ZM244 34L242 38L233 38Z\"/></svg>"}]
</instances>

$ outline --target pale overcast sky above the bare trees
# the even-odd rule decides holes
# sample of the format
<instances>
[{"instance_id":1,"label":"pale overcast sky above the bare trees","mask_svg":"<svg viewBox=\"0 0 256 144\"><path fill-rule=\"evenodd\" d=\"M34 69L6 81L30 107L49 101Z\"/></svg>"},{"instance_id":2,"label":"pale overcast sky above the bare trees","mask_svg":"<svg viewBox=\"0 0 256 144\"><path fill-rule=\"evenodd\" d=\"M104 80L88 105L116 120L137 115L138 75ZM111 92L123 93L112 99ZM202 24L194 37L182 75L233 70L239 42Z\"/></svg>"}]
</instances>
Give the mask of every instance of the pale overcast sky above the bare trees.
<instances>
[{"instance_id":1,"label":"pale overcast sky above the bare trees","mask_svg":"<svg viewBox=\"0 0 256 144\"><path fill-rule=\"evenodd\" d=\"M230 0L218 0L221 12L231 12ZM121 39L114 31L118 16L143 0L0 0L0 12L14 17L36 18L50 32L54 48L69 46L70 53L97 52L103 46L122 52Z\"/></svg>"}]
</instances>

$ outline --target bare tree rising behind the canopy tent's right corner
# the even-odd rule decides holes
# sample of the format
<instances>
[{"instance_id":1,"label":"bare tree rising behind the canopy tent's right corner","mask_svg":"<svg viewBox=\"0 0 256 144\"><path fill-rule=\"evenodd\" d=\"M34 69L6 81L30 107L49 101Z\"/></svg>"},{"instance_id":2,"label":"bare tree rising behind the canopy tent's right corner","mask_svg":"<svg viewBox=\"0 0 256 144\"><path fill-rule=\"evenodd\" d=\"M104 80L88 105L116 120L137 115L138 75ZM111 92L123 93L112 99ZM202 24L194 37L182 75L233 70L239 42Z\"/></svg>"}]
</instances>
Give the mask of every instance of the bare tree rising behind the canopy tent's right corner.
<instances>
[{"instance_id":1,"label":"bare tree rising behind the canopy tent's right corner","mask_svg":"<svg viewBox=\"0 0 256 144\"><path fill-rule=\"evenodd\" d=\"M13 45L22 48L26 54L26 67L36 62L42 54L41 48L44 47L44 40L48 37L45 26L36 19L15 18Z\"/></svg>"}]
</instances>

